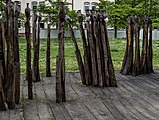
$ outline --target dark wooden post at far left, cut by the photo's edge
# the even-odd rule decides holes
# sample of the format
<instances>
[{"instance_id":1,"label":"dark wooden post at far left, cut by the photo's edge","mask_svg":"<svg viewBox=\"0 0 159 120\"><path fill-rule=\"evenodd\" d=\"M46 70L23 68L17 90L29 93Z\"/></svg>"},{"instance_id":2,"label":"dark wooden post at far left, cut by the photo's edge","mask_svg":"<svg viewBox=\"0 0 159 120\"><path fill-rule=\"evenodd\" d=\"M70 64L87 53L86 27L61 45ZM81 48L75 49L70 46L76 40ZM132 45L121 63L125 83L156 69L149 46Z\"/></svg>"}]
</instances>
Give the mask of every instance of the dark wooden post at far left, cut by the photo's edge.
<instances>
[{"instance_id":1,"label":"dark wooden post at far left, cut by the photo's edge","mask_svg":"<svg viewBox=\"0 0 159 120\"><path fill-rule=\"evenodd\" d=\"M5 59L4 59L4 48L3 48L3 25L2 16L0 11L0 111L6 110L5 106Z\"/></svg>"}]
</instances>

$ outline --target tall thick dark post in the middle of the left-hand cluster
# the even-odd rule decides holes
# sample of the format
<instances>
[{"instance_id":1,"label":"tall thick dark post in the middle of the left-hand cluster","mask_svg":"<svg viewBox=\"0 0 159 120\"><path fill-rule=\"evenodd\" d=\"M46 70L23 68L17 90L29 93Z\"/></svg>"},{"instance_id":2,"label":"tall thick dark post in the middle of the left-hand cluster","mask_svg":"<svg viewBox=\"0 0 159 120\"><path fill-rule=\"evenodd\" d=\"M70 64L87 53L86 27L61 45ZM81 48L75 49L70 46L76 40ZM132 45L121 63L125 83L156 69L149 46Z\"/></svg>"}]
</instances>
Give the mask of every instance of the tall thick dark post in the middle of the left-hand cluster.
<instances>
[{"instance_id":1,"label":"tall thick dark post in the middle of the left-hand cluster","mask_svg":"<svg viewBox=\"0 0 159 120\"><path fill-rule=\"evenodd\" d=\"M9 109L15 108L15 79L14 79L14 5L10 1L7 4L7 83L6 94Z\"/></svg>"}]
</instances>

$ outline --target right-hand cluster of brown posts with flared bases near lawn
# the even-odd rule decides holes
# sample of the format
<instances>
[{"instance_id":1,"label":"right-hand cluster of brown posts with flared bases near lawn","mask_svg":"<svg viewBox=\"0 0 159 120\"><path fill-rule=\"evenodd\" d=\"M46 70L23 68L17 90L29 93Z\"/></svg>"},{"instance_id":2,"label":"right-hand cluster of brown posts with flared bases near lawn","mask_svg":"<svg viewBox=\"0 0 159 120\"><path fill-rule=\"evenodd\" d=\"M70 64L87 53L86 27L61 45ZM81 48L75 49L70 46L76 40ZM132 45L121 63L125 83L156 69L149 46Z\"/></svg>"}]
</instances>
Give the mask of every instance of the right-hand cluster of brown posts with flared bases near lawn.
<instances>
[{"instance_id":1,"label":"right-hand cluster of brown posts with flared bases near lawn","mask_svg":"<svg viewBox=\"0 0 159 120\"><path fill-rule=\"evenodd\" d=\"M121 73L124 75L133 74L135 76L152 73L152 17L146 16L143 18L143 42L141 55L139 17L130 16L127 21L127 44Z\"/></svg>"}]
</instances>

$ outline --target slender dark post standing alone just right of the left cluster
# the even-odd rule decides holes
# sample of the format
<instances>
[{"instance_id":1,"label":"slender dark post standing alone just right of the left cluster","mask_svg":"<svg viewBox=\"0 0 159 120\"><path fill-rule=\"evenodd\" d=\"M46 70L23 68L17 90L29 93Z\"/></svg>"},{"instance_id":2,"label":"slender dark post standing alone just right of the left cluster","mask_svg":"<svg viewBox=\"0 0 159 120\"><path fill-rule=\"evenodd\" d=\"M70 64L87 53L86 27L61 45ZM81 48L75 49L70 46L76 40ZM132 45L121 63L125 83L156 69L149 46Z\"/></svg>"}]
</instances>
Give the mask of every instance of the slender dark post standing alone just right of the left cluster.
<instances>
[{"instance_id":1,"label":"slender dark post standing alone just right of the left cluster","mask_svg":"<svg viewBox=\"0 0 159 120\"><path fill-rule=\"evenodd\" d=\"M28 99L33 99L32 90L32 70L31 70L31 40L30 40L30 8L29 3L27 3L27 8L25 9L25 36L27 41L27 53L26 53L26 80L28 81Z\"/></svg>"}]
</instances>

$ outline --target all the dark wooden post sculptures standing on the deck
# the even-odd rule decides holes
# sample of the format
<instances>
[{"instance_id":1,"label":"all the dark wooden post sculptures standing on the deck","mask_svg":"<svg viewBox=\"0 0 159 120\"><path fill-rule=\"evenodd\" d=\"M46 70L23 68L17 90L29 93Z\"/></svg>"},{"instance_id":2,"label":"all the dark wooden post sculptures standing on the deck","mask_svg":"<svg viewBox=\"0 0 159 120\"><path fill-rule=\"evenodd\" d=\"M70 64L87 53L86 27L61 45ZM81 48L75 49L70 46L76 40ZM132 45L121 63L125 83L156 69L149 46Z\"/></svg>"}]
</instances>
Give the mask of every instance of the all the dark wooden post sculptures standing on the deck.
<instances>
[{"instance_id":1,"label":"all the dark wooden post sculptures standing on the deck","mask_svg":"<svg viewBox=\"0 0 159 120\"><path fill-rule=\"evenodd\" d=\"M5 22L0 17L0 110L15 108L20 100L20 57L18 40L18 16L20 9L16 3L8 1L5 9ZM50 13L51 14L51 13ZM46 77L51 77L50 70L50 19L48 15L48 38L46 50ZM39 48L40 48L40 22L41 14L33 10L33 64L31 65L31 10L29 3L25 9L25 37L26 37L26 80L28 82L28 99L33 99L32 82L40 81ZM68 25L70 37L74 43L76 59L83 85L94 87L117 87L115 71L111 58L108 40L106 14L101 11L86 11L86 30L84 29L84 16L78 11L78 23L83 42L84 55L81 55L76 37L71 25L71 18L65 11L61 2L58 14L58 55L56 58L56 102L65 102L65 54L64 33L65 24ZM153 72L152 66L152 19L145 17L144 38L140 58L139 18L128 18L127 46L122 74L140 75ZM148 31L149 28L149 31ZM149 38L148 38L149 32ZM37 37L37 38L36 38ZM133 44L135 40L135 54ZM6 43L6 48L4 44ZM5 49L7 50L5 55ZM54 88L53 88L54 89Z\"/></svg>"}]
</instances>

